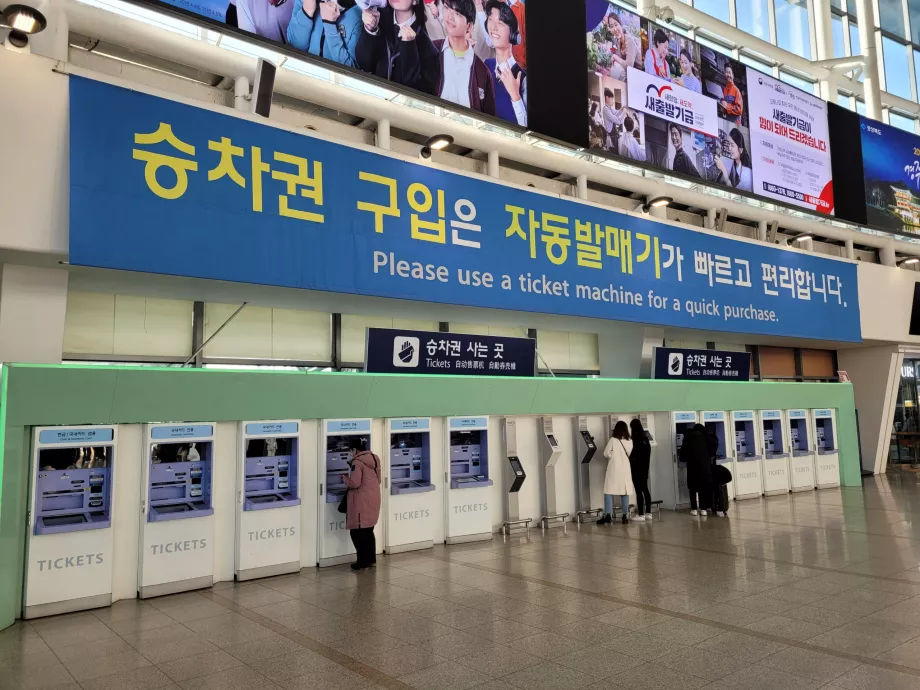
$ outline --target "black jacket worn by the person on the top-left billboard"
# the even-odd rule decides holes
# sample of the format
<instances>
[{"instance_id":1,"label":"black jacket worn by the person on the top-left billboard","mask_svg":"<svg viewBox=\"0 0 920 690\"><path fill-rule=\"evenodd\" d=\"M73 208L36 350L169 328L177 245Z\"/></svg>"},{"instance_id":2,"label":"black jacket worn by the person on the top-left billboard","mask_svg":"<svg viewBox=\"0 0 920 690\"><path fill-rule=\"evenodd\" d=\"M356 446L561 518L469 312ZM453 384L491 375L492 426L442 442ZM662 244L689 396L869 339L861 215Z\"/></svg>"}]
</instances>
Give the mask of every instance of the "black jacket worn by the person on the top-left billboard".
<instances>
[{"instance_id":1,"label":"black jacket worn by the person on the top-left billboard","mask_svg":"<svg viewBox=\"0 0 920 690\"><path fill-rule=\"evenodd\" d=\"M355 61L364 72L437 96L441 81L441 63L437 48L428 37L424 24L415 22L414 41L399 40L399 27L393 9L380 10L377 33L361 28L355 47Z\"/></svg>"}]
</instances>

